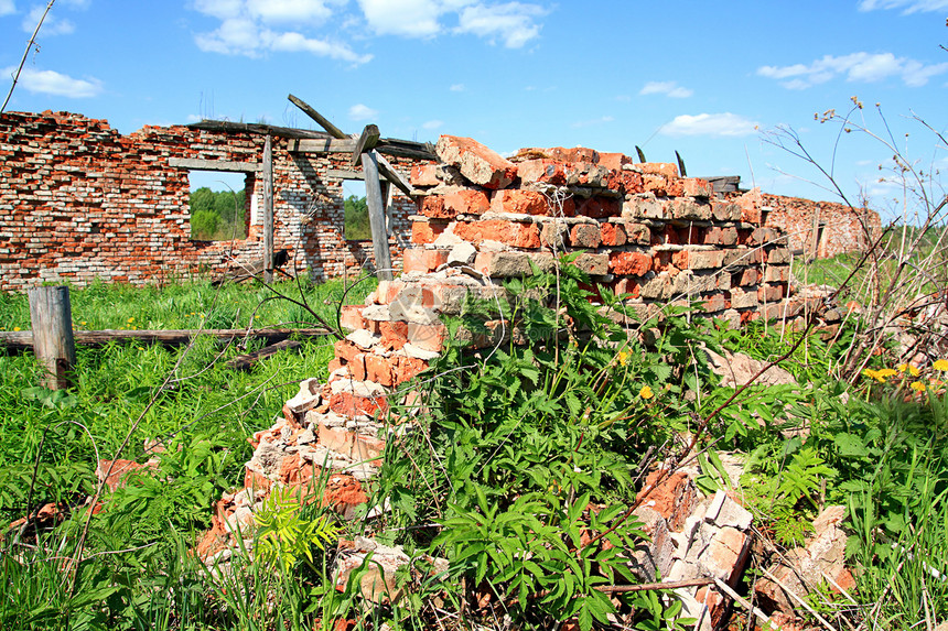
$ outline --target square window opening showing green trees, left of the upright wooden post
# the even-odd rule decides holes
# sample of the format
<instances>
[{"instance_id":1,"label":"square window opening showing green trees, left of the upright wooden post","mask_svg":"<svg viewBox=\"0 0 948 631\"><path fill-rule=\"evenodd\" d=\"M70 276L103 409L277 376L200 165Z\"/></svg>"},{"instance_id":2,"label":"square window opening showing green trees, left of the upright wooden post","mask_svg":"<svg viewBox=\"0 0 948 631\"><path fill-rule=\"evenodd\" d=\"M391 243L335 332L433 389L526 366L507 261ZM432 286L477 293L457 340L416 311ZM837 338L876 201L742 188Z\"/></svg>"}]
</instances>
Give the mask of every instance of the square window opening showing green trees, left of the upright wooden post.
<instances>
[{"instance_id":1,"label":"square window opening showing green trees, left of the upright wooden post","mask_svg":"<svg viewBox=\"0 0 948 631\"><path fill-rule=\"evenodd\" d=\"M246 239L254 200L252 173L188 171L191 239Z\"/></svg>"}]
</instances>

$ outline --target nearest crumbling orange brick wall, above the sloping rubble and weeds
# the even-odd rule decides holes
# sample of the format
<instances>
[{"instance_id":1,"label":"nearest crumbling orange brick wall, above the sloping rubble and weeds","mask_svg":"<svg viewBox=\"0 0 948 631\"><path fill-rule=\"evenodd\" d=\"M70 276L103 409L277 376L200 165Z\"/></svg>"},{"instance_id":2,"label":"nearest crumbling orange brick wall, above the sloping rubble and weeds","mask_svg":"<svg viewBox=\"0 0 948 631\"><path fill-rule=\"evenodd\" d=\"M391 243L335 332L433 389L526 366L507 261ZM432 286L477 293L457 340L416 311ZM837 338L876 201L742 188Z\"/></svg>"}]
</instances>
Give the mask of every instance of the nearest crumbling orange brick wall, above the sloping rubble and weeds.
<instances>
[{"instance_id":1,"label":"nearest crumbling orange brick wall, above the sloping rubble and weeds","mask_svg":"<svg viewBox=\"0 0 948 631\"><path fill-rule=\"evenodd\" d=\"M734 323L779 315L782 232L751 221L760 206L715 198L674 164L580 148L525 150L511 162L452 137L438 154L442 164L412 173L427 195L411 218L405 282L451 264L500 282L582 251L575 264L646 313L697 302Z\"/></svg>"}]
</instances>

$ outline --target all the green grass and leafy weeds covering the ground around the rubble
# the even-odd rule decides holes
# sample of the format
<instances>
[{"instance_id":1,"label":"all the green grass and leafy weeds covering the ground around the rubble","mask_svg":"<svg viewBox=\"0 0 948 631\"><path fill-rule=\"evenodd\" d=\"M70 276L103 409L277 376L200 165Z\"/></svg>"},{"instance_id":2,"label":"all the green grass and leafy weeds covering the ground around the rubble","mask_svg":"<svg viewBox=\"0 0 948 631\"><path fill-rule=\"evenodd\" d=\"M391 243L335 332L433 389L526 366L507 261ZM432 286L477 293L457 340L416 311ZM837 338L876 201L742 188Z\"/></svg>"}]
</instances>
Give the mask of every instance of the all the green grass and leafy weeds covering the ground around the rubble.
<instances>
[{"instance_id":1,"label":"all the green grass and leafy weeds covering the ground around the rubble","mask_svg":"<svg viewBox=\"0 0 948 631\"><path fill-rule=\"evenodd\" d=\"M882 352L851 388L832 376L852 330L833 345L812 336L794 348L794 334L757 325L729 330L676 311L661 323L657 346L634 336L616 347L625 333L590 308L581 282L550 274L509 285L521 296L514 317L537 334L534 347L503 347L475 361L463 345L452 345L425 376L419 431L398 447L390 443L373 488L374 503L391 505L375 536L403 545L420 567L424 555L446 557L449 579L402 576L408 596L379 607L360 601L357 580L335 589L327 572L333 545L326 552L299 538L333 519L315 505L283 515L298 529L287 536L303 547L278 555L282 563L237 554L227 573L214 574L190 552L213 503L241 482L251 455L247 437L271 426L300 380L326 378L334 338L304 340L299 351L248 372L223 367L246 349L209 338L191 348L80 348L78 385L61 393L37 387L30 353L0 356L6 521L22 516L31 486L34 507L82 501L93 491L96 459L114 457L133 427L122 457L143 461L151 455L146 440L155 438L168 447L159 476L140 476L106 498L75 575L63 572L64 561L80 538L83 511L41 533L36 545L4 538L0 623L276 631L347 620L374 630L383 623L394 631L499 629L496 602L511 621L507 628L551 629L572 620L590 630L622 611L628 628L683 629L672 620L672 600L629 592L613 601L592 586L605 580L604 572L614 583L635 580L616 552L635 545L642 532L635 520L616 518L635 499L639 463L649 454L670 456L672 437L701 418L710 421L702 445L746 458L742 492L771 544L790 548L822 507L847 507L855 603L829 589L810 598L836 628L872 621L869 628L908 630L948 618L948 584L933 574L948 573L948 362L916 373ZM560 312L528 296L552 286L564 312L592 326L591 339L567 345L550 335ZM293 284L278 289L300 297ZM357 286L345 302L360 302L370 289ZM97 285L74 291L72 303L77 328L229 328L248 326L251 315L254 326L315 324L305 309L272 295L254 285L217 291L200 282ZM343 287L303 285L303 296L334 322ZM0 296L0 322L26 328L25 298ZM733 391L718 387L707 361L694 359L703 357L694 352L700 344L768 360L790 351L783 366L799 385L752 388L714 412ZM787 433L800 424L806 434ZM702 470L701 488L725 483L710 459ZM604 507L599 516L584 516L589 503ZM346 536L366 527L358 520L333 523ZM571 551L581 531L605 533L608 523L616 530L603 536L614 547ZM489 607L481 605L485 589L494 595Z\"/></svg>"}]
</instances>

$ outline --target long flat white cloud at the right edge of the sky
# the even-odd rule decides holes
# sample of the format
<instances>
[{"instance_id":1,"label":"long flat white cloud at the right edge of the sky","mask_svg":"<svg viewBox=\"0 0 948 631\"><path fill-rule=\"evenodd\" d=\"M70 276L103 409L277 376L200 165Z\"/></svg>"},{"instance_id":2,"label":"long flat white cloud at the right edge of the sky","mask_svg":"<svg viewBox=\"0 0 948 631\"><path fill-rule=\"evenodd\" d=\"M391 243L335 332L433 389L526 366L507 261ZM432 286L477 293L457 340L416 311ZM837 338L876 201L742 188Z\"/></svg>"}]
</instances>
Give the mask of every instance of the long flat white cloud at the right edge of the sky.
<instances>
[{"instance_id":1,"label":"long flat white cloud at the right edge of the sky","mask_svg":"<svg viewBox=\"0 0 948 631\"><path fill-rule=\"evenodd\" d=\"M924 86L935 75L948 72L948 63L925 64L892 53L852 53L850 55L825 55L809 65L761 66L762 77L780 80L785 88L806 89L825 84L836 77L845 76L848 81L879 81L899 77L909 87Z\"/></svg>"}]
</instances>

